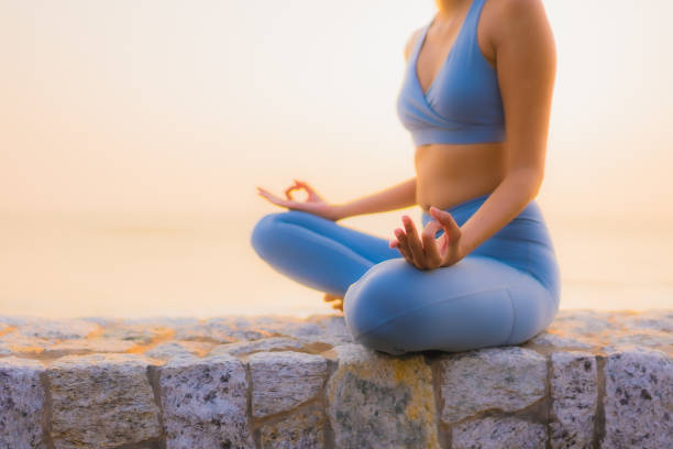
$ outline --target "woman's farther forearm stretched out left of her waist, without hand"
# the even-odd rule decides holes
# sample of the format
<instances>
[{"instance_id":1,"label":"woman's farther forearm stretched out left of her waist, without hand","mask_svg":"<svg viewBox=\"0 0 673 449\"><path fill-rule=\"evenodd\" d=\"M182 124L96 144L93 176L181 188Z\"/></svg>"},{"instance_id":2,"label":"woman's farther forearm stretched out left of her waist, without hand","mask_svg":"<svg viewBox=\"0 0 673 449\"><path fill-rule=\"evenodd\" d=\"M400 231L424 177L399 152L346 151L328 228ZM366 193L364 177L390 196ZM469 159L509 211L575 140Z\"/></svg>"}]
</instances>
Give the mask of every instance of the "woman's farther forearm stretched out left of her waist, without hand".
<instances>
[{"instance_id":1,"label":"woman's farther forearm stretched out left of her waist, without hand","mask_svg":"<svg viewBox=\"0 0 673 449\"><path fill-rule=\"evenodd\" d=\"M416 205L416 176L365 197L339 204L338 220L364 213L385 212Z\"/></svg>"}]
</instances>

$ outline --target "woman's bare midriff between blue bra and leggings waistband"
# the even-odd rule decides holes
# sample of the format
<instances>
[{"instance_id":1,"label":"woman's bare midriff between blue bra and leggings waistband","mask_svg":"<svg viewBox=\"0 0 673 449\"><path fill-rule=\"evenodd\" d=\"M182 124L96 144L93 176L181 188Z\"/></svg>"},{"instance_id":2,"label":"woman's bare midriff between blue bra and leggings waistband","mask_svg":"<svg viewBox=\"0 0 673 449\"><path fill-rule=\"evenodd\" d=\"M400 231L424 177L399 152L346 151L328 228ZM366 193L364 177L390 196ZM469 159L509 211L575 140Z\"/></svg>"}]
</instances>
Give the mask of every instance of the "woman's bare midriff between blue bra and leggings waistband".
<instances>
[{"instance_id":1,"label":"woman's bare midriff between blue bra and leggings waistband","mask_svg":"<svg viewBox=\"0 0 673 449\"><path fill-rule=\"evenodd\" d=\"M448 209L490 194L503 180L504 142L443 144L416 149L416 202Z\"/></svg>"}]
</instances>

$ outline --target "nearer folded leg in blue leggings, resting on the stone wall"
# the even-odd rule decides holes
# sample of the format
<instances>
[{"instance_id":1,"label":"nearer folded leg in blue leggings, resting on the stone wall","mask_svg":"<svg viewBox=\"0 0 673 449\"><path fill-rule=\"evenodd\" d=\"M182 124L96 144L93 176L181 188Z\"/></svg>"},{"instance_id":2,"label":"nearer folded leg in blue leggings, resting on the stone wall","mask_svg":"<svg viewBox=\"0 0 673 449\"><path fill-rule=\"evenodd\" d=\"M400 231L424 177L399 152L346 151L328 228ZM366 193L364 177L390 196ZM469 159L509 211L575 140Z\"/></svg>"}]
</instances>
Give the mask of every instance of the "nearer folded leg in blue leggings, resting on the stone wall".
<instances>
[{"instance_id":1,"label":"nearer folded leg in blue leggings, resting on the stone wall","mask_svg":"<svg viewBox=\"0 0 673 449\"><path fill-rule=\"evenodd\" d=\"M380 262L346 292L355 341L391 354L517 344L547 327L556 303L533 276L483 255L421 271Z\"/></svg>"}]
</instances>

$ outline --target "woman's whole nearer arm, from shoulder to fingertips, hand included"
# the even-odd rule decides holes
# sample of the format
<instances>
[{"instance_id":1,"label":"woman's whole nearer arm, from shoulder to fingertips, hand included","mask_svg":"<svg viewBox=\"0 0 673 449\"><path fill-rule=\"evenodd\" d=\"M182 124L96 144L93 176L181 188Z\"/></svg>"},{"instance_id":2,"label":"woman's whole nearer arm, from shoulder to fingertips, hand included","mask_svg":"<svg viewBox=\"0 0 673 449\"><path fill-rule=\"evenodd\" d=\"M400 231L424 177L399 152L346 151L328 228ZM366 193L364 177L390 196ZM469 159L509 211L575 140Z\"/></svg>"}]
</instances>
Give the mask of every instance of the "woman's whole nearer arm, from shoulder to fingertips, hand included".
<instances>
[{"instance_id":1,"label":"woman's whole nearer arm, from shoulder to fingertips, hand included","mask_svg":"<svg viewBox=\"0 0 673 449\"><path fill-rule=\"evenodd\" d=\"M517 217L538 195L544 174L547 135L556 70L553 34L542 0L503 0L494 31L498 83L505 108L506 175L486 201L459 227L451 213L430 208L434 218L417 233L402 216L397 247L420 270L451 266ZM434 238L439 229L444 234Z\"/></svg>"}]
</instances>

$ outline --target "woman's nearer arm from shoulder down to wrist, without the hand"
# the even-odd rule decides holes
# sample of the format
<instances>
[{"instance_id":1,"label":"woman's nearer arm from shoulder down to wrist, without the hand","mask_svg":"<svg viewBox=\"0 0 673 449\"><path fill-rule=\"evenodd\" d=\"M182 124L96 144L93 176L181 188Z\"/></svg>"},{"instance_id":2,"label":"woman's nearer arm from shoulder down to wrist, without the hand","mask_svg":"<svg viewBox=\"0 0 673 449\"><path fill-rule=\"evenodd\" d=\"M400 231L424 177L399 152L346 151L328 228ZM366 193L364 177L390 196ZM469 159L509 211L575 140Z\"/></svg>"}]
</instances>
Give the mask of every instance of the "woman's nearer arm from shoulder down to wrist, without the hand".
<instances>
[{"instance_id":1,"label":"woman's nearer arm from shoulder down to wrist, without the hand","mask_svg":"<svg viewBox=\"0 0 673 449\"><path fill-rule=\"evenodd\" d=\"M554 37L542 0L500 4L494 46L505 110L507 174L461 227L463 254L517 217L538 195L544 174L556 70Z\"/></svg>"}]
</instances>

